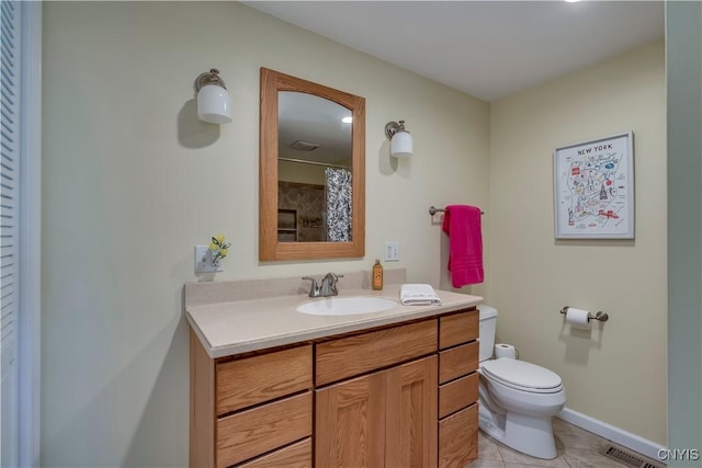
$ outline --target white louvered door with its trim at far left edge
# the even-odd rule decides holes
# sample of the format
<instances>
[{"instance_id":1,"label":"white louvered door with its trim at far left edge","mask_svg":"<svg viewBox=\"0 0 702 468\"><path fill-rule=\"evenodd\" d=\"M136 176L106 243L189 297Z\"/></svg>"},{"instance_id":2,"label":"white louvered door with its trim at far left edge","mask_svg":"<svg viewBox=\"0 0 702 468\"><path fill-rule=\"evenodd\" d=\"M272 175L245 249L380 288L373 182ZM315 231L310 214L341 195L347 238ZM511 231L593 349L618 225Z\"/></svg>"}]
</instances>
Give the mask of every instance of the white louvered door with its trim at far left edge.
<instances>
[{"instance_id":1,"label":"white louvered door with its trim at far left edge","mask_svg":"<svg viewBox=\"0 0 702 468\"><path fill-rule=\"evenodd\" d=\"M42 2L0 0L0 466L39 456Z\"/></svg>"}]
</instances>

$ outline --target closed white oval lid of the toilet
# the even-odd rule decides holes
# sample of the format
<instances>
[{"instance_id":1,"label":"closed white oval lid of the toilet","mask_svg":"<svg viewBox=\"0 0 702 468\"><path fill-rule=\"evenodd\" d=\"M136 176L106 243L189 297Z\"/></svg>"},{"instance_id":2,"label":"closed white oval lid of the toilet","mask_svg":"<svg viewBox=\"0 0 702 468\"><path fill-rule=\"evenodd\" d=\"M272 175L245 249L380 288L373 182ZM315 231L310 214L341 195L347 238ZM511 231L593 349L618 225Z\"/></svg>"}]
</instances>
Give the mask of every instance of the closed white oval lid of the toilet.
<instances>
[{"instance_id":1,"label":"closed white oval lid of the toilet","mask_svg":"<svg viewBox=\"0 0 702 468\"><path fill-rule=\"evenodd\" d=\"M526 391L556 391L562 385L558 374L524 361L500 357L484 362L480 368L490 378Z\"/></svg>"}]
</instances>

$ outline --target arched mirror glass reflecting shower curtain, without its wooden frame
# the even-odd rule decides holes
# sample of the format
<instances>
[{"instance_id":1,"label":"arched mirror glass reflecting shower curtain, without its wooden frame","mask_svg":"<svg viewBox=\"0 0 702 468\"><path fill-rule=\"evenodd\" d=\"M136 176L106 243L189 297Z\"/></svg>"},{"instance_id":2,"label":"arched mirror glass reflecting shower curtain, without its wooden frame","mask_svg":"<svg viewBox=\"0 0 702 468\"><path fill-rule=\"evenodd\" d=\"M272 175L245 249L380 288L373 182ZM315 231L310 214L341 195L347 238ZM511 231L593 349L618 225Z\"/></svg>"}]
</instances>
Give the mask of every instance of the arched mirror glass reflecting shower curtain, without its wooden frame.
<instances>
[{"instance_id":1,"label":"arched mirror glass reflecting shower curtain, without its wooden frame","mask_svg":"<svg viewBox=\"0 0 702 468\"><path fill-rule=\"evenodd\" d=\"M351 111L328 99L278 93L279 242L351 240L350 214L341 231L327 222L329 210L333 218L351 206Z\"/></svg>"}]
</instances>

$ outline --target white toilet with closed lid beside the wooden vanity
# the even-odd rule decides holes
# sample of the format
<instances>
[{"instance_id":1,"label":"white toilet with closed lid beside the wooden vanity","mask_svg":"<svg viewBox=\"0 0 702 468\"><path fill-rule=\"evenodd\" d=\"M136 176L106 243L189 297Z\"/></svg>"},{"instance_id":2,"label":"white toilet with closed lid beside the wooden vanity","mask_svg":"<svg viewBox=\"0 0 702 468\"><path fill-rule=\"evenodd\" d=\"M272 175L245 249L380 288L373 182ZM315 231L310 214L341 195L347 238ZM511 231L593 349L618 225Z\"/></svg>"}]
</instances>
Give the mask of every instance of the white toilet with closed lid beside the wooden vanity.
<instances>
[{"instance_id":1,"label":"white toilet with closed lid beside the wooden vanity","mask_svg":"<svg viewBox=\"0 0 702 468\"><path fill-rule=\"evenodd\" d=\"M502 444L537 458L556 457L551 419L566 403L561 377L524 361L492 359L497 310L480 316L479 426Z\"/></svg>"}]
</instances>

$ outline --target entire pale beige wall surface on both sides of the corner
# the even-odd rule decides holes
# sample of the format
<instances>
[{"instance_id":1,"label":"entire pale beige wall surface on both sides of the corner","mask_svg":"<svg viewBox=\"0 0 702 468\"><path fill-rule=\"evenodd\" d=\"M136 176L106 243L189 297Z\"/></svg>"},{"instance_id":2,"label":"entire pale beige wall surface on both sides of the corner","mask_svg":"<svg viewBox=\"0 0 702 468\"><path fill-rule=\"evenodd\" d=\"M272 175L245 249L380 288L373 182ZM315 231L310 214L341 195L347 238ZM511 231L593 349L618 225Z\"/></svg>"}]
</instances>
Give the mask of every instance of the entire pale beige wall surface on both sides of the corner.
<instances>
[{"instance_id":1,"label":"entire pale beige wall surface on both sides of the corner","mask_svg":"<svg viewBox=\"0 0 702 468\"><path fill-rule=\"evenodd\" d=\"M559 373L569 408L665 443L663 44L488 106L234 2L46 2L44 24L45 466L186 465L194 244L224 232L216 278L238 279L367 270L397 240L387 266L446 287L427 208L451 203L485 207L487 281L466 290L499 308L499 340ZM258 261L261 66L366 99L364 259ZM220 127L194 116L211 67L235 107ZM400 118L398 162L383 129ZM630 129L636 239L555 242L553 148ZM566 304L612 318L571 335Z\"/></svg>"}]
</instances>

